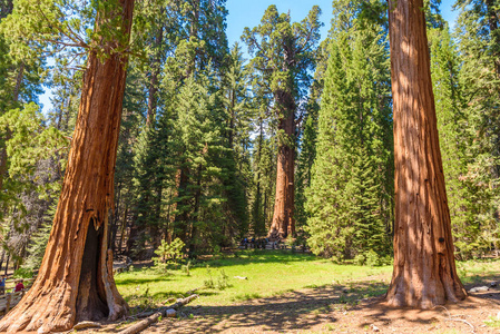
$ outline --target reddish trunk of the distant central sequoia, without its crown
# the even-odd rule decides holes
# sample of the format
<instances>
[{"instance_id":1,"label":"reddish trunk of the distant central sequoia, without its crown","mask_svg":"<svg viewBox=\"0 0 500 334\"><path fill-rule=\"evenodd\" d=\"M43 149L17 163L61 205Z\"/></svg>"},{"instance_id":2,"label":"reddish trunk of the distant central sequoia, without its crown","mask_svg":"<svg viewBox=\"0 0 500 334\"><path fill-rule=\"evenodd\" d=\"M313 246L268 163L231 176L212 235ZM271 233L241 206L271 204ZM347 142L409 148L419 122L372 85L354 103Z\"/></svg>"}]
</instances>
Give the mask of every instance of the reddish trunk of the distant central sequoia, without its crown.
<instances>
[{"instance_id":1,"label":"reddish trunk of the distant central sequoia, without its crown","mask_svg":"<svg viewBox=\"0 0 500 334\"><path fill-rule=\"evenodd\" d=\"M295 101L290 92L277 91L280 110L276 196L269 238L281 239L295 233L294 175L295 175Z\"/></svg>"}]
</instances>

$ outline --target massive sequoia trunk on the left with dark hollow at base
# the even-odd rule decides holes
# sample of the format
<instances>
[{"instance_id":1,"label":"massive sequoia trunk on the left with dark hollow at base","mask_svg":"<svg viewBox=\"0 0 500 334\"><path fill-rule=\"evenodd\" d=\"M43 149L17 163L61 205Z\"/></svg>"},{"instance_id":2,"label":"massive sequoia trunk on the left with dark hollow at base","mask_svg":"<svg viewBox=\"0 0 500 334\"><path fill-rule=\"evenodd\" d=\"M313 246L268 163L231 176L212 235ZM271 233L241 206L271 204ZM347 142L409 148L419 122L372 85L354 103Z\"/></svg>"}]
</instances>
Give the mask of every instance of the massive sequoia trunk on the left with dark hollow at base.
<instances>
[{"instance_id":1,"label":"massive sequoia trunk on the left with dark hollow at base","mask_svg":"<svg viewBox=\"0 0 500 334\"><path fill-rule=\"evenodd\" d=\"M134 0L119 4L121 31L128 36ZM117 320L127 312L112 278L107 238L128 59L112 52L124 46L104 47L109 51L104 62L89 53L62 191L37 281L1 320L0 332L68 331L76 322Z\"/></svg>"}]
</instances>

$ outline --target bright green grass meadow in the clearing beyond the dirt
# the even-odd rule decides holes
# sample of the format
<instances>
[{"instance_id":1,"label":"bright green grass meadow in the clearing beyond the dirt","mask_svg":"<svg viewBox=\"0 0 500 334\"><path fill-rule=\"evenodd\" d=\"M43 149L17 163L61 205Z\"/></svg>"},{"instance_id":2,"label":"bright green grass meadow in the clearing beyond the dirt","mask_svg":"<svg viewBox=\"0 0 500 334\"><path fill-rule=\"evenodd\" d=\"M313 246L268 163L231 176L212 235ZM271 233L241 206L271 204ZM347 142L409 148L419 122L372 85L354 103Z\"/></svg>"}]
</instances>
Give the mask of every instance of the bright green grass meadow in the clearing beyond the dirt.
<instances>
[{"instance_id":1,"label":"bright green grass meadow in the clearing beyond the dirt","mask_svg":"<svg viewBox=\"0 0 500 334\"><path fill-rule=\"evenodd\" d=\"M499 276L499 265L500 261L463 262L458 263L458 271L464 284L472 284ZM245 250L237 256L197 262L189 275L185 268L174 266L163 274L154 268L136 268L115 278L129 305L143 310L185 296L194 288L199 288L197 303L202 305L229 305L329 285L357 289L356 297L369 297L384 293L391 274L392 266L341 265L311 254Z\"/></svg>"}]
</instances>

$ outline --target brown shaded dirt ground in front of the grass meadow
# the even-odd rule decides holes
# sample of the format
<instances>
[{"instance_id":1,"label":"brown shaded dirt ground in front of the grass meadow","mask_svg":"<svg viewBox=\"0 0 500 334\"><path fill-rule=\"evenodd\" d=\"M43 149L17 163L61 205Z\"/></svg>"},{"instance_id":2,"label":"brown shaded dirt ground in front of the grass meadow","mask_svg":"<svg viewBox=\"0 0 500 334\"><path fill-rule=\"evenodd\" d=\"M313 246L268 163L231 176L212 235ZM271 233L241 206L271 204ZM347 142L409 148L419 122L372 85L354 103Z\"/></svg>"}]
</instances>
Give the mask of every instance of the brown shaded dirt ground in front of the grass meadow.
<instances>
[{"instance_id":1,"label":"brown shaded dirt ground in front of the grass meadow","mask_svg":"<svg viewBox=\"0 0 500 334\"><path fill-rule=\"evenodd\" d=\"M500 287L431 311L391 310L381 296L363 298L385 287L372 282L307 288L228 306L193 302L182 308L179 317L163 320L143 333L500 333ZM486 324L491 318L498 320L497 327Z\"/></svg>"}]
</instances>

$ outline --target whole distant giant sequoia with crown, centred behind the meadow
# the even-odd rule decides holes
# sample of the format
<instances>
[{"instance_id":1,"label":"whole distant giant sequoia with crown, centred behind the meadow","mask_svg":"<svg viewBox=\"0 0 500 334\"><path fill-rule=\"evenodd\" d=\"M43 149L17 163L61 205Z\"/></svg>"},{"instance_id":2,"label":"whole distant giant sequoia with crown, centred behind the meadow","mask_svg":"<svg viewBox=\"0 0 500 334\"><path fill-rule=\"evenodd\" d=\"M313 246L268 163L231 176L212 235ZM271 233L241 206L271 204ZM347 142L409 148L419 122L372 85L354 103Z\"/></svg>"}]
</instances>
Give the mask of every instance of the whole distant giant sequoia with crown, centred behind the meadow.
<instances>
[{"instance_id":1,"label":"whole distant giant sequoia with crown, centred behind the meadow","mask_svg":"<svg viewBox=\"0 0 500 334\"><path fill-rule=\"evenodd\" d=\"M291 23L290 14L280 14L273 4L267 8L261 24L252 30L245 28L242 37L254 55L252 67L266 82L268 94L273 96L278 124L276 196L269 230L272 238L284 238L295 230L296 114L315 66L320 13L320 8L315 6L300 23Z\"/></svg>"}]
</instances>

